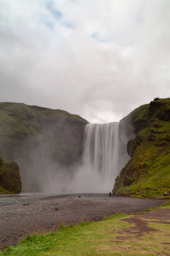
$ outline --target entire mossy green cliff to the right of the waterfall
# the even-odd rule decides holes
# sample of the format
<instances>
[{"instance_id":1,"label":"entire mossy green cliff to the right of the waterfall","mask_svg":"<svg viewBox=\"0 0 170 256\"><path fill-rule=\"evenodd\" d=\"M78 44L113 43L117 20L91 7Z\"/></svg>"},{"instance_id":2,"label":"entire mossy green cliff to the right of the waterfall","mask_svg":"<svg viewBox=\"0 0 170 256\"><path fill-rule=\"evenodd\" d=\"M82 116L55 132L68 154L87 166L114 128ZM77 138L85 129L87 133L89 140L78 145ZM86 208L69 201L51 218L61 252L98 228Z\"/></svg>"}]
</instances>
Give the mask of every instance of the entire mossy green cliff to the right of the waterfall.
<instances>
[{"instance_id":1,"label":"entire mossy green cliff to the right of the waterfall","mask_svg":"<svg viewBox=\"0 0 170 256\"><path fill-rule=\"evenodd\" d=\"M133 124L136 137L127 143L131 159L113 190L142 197L163 195L170 190L170 99L143 105L122 122Z\"/></svg>"}]
</instances>

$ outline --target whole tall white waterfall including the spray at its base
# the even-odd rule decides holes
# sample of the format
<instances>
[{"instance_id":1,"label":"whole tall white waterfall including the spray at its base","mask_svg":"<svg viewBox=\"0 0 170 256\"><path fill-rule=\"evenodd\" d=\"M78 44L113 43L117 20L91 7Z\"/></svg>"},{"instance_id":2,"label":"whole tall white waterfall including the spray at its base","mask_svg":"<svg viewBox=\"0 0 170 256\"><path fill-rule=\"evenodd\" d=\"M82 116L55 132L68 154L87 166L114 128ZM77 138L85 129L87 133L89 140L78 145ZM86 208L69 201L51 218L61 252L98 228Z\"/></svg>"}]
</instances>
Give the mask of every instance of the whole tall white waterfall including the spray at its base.
<instances>
[{"instance_id":1,"label":"whole tall white waterfall including the spray at its base","mask_svg":"<svg viewBox=\"0 0 170 256\"><path fill-rule=\"evenodd\" d=\"M130 159L126 144L131 138L124 122L86 125L82 164L77 166L70 188L81 193L110 192Z\"/></svg>"}]
</instances>

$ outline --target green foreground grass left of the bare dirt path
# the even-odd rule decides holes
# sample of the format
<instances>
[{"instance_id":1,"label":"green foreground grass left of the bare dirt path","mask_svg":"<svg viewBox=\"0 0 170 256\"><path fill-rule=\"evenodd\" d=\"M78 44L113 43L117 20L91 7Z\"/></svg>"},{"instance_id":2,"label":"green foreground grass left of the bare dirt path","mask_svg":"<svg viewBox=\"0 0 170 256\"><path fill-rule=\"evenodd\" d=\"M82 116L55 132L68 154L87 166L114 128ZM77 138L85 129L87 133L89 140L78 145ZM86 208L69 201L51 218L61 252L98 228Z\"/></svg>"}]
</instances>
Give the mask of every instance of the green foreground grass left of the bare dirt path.
<instances>
[{"instance_id":1,"label":"green foreground grass left of the bare dirt path","mask_svg":"<svg viewBox=\"0 0 170 256\"><path fill-rule=\"evenodd\" d=\"M112 230L121 230L129 224L119 222L125 214L112 216L110 220L83 222L74 227L60 225L57 232L28 235L17 247L8 247L1 256L45 256L45 255L106 255L99 250L101 244L112 239ZM114 218L114 220L113 220ZM108 232L109 231L109 232ZM95 245L95 246L94 246ZM116 254L115 254L116 255Z\"/></svg>"}]
</instances>

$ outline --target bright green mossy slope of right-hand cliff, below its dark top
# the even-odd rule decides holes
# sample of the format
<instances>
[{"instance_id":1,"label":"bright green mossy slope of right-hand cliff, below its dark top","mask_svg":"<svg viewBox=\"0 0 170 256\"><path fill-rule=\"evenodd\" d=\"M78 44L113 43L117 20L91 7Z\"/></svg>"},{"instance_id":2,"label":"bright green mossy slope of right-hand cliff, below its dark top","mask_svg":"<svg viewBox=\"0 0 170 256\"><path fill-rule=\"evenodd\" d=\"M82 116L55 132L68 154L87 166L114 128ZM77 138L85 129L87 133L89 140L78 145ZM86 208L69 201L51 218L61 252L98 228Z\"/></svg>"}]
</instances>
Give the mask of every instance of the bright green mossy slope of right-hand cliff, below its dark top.
<instances>
[{"instance_id":1,"label":"bright green mossy slope of right-hand cliff, below its dark top","mask_svg":"<svg viewBox=\"0 0 170 256\"><path fill-rule=\"evenodd\" d=\"M148 125L127 143L131 159L116 178L118 194L154 198L170 190L170 122Z\"/></svg>"}]
</instances>

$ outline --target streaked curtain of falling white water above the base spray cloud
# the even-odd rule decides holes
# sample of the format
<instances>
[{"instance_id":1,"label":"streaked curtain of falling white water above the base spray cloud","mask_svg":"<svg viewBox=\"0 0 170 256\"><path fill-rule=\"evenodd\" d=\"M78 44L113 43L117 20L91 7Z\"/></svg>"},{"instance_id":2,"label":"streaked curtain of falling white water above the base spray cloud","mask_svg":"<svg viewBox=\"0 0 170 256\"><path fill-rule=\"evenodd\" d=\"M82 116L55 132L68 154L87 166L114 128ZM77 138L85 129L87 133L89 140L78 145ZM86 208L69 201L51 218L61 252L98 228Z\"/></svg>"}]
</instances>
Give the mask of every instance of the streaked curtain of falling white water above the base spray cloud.
<instances>
[{"instance_id":1,"label":"streaked curtain of falling white water above the base spray cloud","mask_svg":"<svg viewBox=\"0 0 170 256\"><path fill-rule=\"evenodd\" d=\"M119 175L119 122L86 125L83 147L83 166L113 186Z\"/></svg>"}]
</instances>

